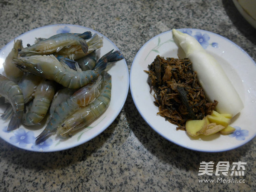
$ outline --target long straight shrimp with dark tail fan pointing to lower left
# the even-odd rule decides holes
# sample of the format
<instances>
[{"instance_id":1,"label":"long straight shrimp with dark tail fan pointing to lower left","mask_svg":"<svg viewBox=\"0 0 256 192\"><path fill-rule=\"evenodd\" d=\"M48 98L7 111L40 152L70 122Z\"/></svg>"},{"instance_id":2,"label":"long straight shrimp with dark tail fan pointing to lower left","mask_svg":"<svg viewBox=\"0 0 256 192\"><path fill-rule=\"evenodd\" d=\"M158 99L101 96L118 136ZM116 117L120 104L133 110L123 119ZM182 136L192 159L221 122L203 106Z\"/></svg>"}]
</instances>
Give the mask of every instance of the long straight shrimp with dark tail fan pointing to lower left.
<instances>
[{"instance_id":1,"label":"long straight shrimp with dark tail fan pointing to lower left","mask_svg":"<svg viewBox=\"0 0 256 192\"><path fill-rule=\"evenodd\" d=\"M57 127L64 119L73 114L80 107L85 107L93 102L93 100L99 96L102 90L102 84L102 76L99 76L96 81L81 87L72 96L61 102L55 108L49 123L44 131L37 137L35 143L38 144L44 141L47 136L56 131Z\"/></svg>"}]
</instances>

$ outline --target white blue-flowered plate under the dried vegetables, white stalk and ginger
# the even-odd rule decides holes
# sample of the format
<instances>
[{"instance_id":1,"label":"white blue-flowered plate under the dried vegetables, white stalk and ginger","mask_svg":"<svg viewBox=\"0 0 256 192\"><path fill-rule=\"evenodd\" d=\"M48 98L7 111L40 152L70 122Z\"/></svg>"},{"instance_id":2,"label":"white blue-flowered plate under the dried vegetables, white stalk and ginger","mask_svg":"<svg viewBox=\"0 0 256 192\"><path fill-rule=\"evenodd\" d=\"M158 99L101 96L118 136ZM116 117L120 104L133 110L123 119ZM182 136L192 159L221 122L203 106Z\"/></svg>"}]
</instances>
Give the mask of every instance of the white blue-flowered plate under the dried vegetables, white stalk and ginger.
<instances>
[{"instance_id":1,"label":"white blue-flowered plate under the dried vegetables, white stalk and ginger","mask_svg":"<svg viewBox=\"0 0 256 192\"><path fill-rule=\"evenodd\" d=\"M202 47L212 54L221 64L234 87L238 91L244 109L231 126L236 131L229 135L189 137L186 131L176 130L176 125L157 115L154 97L148 86L148 65L157 55L164 58L177 58L177 45L172 31L163 32L146 42L134 58L130 71L131 95L137 110L158 134L177 145L195 151L219 152L238 148L256 136L256 64L243 49L227 38L200 29L178 29L195 37ZM214 79L213 79L214 80Z\"/></svg>"}]
</instances>

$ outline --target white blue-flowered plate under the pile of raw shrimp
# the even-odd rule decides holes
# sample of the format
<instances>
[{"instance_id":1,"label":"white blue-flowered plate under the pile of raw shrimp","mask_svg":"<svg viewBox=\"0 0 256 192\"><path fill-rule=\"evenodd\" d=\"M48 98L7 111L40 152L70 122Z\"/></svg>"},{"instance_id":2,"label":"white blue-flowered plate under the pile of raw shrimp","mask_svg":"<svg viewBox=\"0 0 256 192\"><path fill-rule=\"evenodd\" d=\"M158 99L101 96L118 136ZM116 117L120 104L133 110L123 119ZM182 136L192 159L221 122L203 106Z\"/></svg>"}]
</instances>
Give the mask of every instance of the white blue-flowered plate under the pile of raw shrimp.
<instances>
[{"instance_id":1,"label":"white blue-flowered plate under the pile of raw shrimp","mask_svg":"<svg viewBox=\"0 0 256 192\"><path fill-rule=\"evenodd\" d=\"M112 41L99 32L87 27L69 24L50 25L33 29L18 36L15 38L15 40L21 39L23 41L23 46L25 47L26 44L34 44L35 38L49 38L52 35L64 32L83 33L86 31L90 31L92 34L97 33L100 37L103 37L103 47L97 50L98 57L101 57L112 49L119 50ZM11 51L13 44L14 40L9 42L5 47L3 47L3 49L0 50L1 74L4 73L3 62ZM111 68L108 69L108 73L110 73L112 77L112 94L109 107L98 119L96 119L96 121L91 123L87 128L84 128L73 135L73 137L63 140L56 135L52 135L39 145L35 145L35 137L37 137L44 130L46 125L38 125L38 127L34 127L34 129L30 128L29 126L25 127L21 125L20 128L14 131L7 131L9 121L3 121L3 119L0 119L0 137L18 148L40 152L61 151L68 148L73 148L93 139L108 128L108 126L111 125L111 123L116 119L128 95L129 73L125 59L117 61L115 64L111 65ZM0 113L3 113L4 110L5 105L1 103Z\"/></svg>"}]
</instances>

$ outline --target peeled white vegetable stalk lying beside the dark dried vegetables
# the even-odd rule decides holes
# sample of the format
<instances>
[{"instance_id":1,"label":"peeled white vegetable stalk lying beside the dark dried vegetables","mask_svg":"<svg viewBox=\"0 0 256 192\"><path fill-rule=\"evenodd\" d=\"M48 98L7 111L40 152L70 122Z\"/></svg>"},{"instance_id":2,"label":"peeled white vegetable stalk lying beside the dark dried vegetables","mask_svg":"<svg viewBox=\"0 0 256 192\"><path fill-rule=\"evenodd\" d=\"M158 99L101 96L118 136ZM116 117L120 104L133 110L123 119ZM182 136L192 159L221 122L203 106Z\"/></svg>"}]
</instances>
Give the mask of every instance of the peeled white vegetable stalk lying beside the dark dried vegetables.
<instances>
[{"instance_id":1,"label":"peeled white vegetable stalk lying beside the dark dried vegetables","mask_svg":"<svg viewBox=\"0 0 256 192\"><path fill-rule=\"evenodd\" d=\"M218 101L218 113L235 116L244 108L243 102L228 79L218 61L192 36L172 30L175 44L185 52L192 62L192 70L197 73L199 83L210 102Z\"/></svg>"}]
</instances>

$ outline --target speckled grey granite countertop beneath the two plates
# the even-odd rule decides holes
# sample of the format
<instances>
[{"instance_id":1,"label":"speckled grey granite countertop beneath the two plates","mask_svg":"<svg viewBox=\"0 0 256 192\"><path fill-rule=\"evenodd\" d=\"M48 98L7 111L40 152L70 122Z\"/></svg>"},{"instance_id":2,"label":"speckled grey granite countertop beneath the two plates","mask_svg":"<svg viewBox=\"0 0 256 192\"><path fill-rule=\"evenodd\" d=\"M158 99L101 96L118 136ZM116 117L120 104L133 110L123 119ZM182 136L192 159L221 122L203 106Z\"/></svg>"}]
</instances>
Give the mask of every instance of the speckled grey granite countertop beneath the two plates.
<instances>
[{"instance_id":1,"label":"speckled grey granite countertop beneath the two plates","mask_svg":"<svg viewBox=\"0 0 256 192\"><path fill-rule=\"evenodd\" d=\"M256 61L256 29L226 0L0 1L0 49L52 24L86 26L122 51L130 70L138 50L173 28L222 35ZM199 183L201 162L246 162L237 183ZM38 153L0 139L0 191L255 191L256 138L224 152L192 151L169 142L140 116L129 91L122 111L99 136L64 151ZM223 177L223 179L232 179Z\"/></svg>"}]
</instances>

